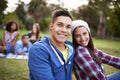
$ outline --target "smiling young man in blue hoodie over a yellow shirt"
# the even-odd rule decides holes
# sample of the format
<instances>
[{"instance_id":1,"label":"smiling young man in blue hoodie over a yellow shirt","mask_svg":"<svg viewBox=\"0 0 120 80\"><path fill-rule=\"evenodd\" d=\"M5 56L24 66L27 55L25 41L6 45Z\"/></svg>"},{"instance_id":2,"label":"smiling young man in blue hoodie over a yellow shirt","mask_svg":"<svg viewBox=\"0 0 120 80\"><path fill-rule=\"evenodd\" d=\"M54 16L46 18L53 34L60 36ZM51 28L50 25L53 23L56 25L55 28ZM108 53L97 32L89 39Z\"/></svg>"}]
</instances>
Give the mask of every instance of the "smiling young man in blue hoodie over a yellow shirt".
<instances>
[{"instance_id":1,"label":"smiling young man in blue hoodie over a yellow shirt","mask_svg":"<svg viewBox=\"0 0 120 80\"><path fill-rule=\"evenodd\" d=\"M72 80L74 49L69 41L72 17L68 11L55 10L49 26L50 38L35 43L29 52L31 80Z\"/></svg>"}]
</instances>

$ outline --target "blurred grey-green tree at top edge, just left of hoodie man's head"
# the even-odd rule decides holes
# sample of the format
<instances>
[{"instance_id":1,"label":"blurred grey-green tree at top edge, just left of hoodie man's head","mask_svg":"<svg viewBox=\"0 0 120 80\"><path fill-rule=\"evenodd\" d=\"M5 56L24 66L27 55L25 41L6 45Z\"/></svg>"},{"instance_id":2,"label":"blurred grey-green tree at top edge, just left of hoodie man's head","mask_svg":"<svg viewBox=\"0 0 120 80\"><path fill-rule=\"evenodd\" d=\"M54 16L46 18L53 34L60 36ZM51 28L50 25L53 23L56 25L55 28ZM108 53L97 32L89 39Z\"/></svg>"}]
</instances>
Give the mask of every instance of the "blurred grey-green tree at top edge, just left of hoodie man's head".
<instances>
[{"instance_id":1,"label":"blurred grey-green tree at top edge, just left of hoodie man's head","mask_svg":"<svg viewBox=\"0 0 120 80\"><path fill-rule=\"evenodd\" d=\"M43 30L46 27L45 18L50 16L51 11L44 0L32 0L29 4L28 14L34 18L35 22L41 25Z\"/></svg>"}]
</instances>

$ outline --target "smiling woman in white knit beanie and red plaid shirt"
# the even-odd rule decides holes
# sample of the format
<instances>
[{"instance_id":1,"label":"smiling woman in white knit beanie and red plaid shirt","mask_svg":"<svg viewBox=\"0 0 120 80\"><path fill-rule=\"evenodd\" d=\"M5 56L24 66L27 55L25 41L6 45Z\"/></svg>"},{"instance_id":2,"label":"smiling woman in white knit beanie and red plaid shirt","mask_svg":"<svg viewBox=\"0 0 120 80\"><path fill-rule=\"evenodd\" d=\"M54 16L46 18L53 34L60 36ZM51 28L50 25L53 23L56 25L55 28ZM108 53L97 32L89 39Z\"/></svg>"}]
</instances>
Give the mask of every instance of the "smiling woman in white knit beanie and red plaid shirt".
<instances>
[{"instance_id":1,"label":"smiling woman in white knit beanie and red plaid shirt","mask_svg":"<svg viewBox=\"0 0 120 80\"><path fill-rule=\"evenodd\" d=\"M72 23L72 39L76 50L74 72L77 80L120 80L120 73L109 77L102 63L120 69L120 58L105 54L94 47L88 24L83 20Z\"/></svg>"}]
</instances>

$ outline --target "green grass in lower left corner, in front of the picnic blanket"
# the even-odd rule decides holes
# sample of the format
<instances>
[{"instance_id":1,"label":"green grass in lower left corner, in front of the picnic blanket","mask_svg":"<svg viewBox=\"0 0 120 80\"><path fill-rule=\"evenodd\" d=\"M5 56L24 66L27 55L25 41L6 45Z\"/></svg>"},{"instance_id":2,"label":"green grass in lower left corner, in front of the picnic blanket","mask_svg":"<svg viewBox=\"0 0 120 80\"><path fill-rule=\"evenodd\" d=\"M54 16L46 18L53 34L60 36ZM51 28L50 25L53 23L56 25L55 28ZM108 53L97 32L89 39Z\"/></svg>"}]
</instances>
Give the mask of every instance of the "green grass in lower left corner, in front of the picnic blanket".
<instances>
[{"instance_id":1,"label":"green grass in lower left corner, in front of the picnic blanket","mask_svg":"<svg viewBox=\"0 0 120 80\"><path fill-rule=\"evenodd\" d=\"M0 58L0 80L29 80L27 62Z\"/></svg>"}]
</instances>

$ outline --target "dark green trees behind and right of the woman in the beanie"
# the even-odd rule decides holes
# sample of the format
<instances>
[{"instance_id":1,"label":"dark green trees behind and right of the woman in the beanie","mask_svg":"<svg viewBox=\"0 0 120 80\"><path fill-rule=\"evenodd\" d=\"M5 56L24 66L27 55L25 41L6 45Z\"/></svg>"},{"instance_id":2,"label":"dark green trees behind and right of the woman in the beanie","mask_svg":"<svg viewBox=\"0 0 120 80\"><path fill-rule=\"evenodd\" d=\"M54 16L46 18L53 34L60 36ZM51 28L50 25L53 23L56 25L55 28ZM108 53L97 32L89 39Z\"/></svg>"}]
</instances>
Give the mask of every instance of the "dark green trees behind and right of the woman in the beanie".
<instances>
[{"instance_id":1,"label":"dark green trees behind and right of the woman in the beanie","mask_svg":"<svg viewBox=\"0 0 120 80\"><path fill-rule=\"evenodd\" d=\"M120 37L119 5L119 0L89 0L88 5L81 6L71 12L74 19L83 19L88 22L93 36L100 38ZM110 20L107 20L109 18Z\"/></svg>"}]
</instances>

